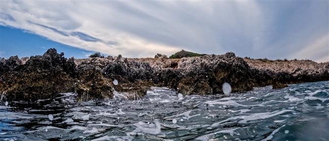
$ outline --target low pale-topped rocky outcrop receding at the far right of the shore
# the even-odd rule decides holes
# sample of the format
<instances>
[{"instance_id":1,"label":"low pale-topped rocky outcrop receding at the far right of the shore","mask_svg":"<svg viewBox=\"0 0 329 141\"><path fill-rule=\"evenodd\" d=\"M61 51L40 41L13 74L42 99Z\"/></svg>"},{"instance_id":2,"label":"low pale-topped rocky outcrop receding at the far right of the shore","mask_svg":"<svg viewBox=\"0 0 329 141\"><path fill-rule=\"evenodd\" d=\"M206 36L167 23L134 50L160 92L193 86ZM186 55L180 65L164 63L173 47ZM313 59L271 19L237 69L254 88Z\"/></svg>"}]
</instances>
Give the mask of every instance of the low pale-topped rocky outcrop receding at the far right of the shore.
<instances>
[{"instance_id":1,"label":"low pale-topped rocky outcrop receding at the far right of the shore","mask_svg":"<svg viewBox=\"0 0 329 141\"><path fill-rule=\"evenodd\" d=\"M329 62L316 63L311 60L267 60L244 58L256 75L256 86L273 85L273 88L287 87L286 84L328 81ZM279 85L280 84L280 85Z\"/></svg>"}]
</instances>

